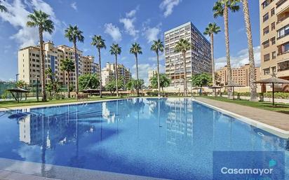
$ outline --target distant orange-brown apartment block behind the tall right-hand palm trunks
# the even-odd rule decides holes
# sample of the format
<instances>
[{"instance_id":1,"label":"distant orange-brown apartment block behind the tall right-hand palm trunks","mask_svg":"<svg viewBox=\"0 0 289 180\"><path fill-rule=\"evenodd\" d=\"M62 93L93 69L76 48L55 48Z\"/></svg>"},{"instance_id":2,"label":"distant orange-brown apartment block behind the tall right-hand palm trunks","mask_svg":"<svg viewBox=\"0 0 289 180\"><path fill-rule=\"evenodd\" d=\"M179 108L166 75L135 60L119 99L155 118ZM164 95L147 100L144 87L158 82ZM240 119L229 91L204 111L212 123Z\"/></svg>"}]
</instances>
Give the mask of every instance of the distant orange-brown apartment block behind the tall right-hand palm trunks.
<instances>
[{"instance_id":1,"label":"distant orange-brown apartment block behind the tall right-hand palm trunks","mask_svg":"<svg viewBox=\"0 0 289 180\"><path fill-rule=\"evenodd\" d=\"M249 80L250 80L250 65L245 64L242 67L239 68L233 68L231 69L231 77L232 81L234 83L238 83L239 85L245 85L249 86ZM219 69L216 71L217 75L219 76L219 79L216 78L217 83L220 83L220 85L227 85L228 84L228 67L222 67L222 69ZM255 68L255 76L256 80L260 80L260 67Z\"/></svg>"}]
</instances>

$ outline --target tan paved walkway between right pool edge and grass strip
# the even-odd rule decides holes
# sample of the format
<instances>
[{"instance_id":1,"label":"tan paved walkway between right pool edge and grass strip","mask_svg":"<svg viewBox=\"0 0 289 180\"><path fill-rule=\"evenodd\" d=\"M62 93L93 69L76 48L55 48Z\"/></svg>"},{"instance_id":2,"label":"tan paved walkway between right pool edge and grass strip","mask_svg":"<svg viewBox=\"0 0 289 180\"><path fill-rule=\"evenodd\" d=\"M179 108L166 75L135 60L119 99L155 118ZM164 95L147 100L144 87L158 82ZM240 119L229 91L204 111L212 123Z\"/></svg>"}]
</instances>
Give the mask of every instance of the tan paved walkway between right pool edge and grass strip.
<instances>
[{"instance_id":1,"label":"tan paved walkway between right pool edge and grass strip","mask_svg":"<svg viewBox=\"0 0 289 180\"><path fill-rule=\"evenodd\" d=\"M220 102L213 99L206 99L203 97L196 97L196 100L210 104L220 109L226 111L231 111L240 116L245 116L247 118L257 120L260 123L271 125L277 127L281 130L289 131L289 115L285 113L277 113L274 111L267 111L263 109L257 109L250 106L243 106L239 104L232 104L229 102Z\"/></svg>"}]
</instances>

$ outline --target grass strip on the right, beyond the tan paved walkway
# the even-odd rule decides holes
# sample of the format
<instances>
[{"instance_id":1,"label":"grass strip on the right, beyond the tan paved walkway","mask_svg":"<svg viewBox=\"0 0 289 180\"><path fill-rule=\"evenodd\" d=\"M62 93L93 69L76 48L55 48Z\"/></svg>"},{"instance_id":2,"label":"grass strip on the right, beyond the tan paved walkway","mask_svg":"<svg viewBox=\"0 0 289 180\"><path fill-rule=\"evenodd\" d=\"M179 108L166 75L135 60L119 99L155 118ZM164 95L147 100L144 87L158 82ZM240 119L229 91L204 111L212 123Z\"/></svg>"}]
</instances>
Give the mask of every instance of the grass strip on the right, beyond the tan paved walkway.
<instances>
[{"instance_id":1,"label":"grass strip on the right, beyond the tan paved walkway","mask_svg":"<svg viewBox=\"0 0 289 180\"><path fill-rule=\"evenodd\" d=\"M233 104L240 104L243 106L250 106L255 107L259 109L264 109L268 111L276 111L279 113L286 113L289 114L289 104L283 104L283 103L275 103L276 106L272 106L271 102L250 102L248 100L239 100L235 99L234 101L232 99L227 99L227 97L209 97L209 96L201 96L207 99L213 99L221 102L230 102Z\"/></svg>"}]
</instances>

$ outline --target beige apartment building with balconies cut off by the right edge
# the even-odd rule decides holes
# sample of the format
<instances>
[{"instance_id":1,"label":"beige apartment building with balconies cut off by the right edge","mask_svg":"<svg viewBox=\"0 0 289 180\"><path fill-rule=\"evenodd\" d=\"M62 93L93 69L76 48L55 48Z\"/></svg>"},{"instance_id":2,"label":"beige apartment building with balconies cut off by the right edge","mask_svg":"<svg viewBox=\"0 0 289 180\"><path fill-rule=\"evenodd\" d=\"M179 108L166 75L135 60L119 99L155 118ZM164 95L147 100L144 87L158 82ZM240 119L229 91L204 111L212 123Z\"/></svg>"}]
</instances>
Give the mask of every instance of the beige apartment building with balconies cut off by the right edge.
<instances>
[{"instance_id":1,"label":"beige apartment building with balconies cut off by the right edge","mask_svg":"<svg viewBox=\"0 0 289 180\"><path fill-rule=\"evenodd\" d=\"M261 78L289 80L289 1L260 0Z\"/></svg>"}]
</instances>

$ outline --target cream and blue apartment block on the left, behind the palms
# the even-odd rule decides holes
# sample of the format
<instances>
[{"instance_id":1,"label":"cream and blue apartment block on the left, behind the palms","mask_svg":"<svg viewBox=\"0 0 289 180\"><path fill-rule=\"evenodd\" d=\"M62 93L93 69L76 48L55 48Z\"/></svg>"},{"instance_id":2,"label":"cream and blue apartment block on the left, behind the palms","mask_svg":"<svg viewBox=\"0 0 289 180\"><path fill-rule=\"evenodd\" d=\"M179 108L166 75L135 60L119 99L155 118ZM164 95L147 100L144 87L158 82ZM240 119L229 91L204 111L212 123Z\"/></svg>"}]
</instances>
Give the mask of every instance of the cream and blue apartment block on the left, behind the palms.
<instances>
[{"instance_id":1,"label":"cream and blue apartment block on the left, behind the palms","mask_svg":"<svg viewBox=\"0 0 289 180\"><path fill-rule=\"evenodd\" d=\"M45 67L51 67L55 78L58 78L60 83L67 85L67 72L61 70L62 60L69 58L74 60L74 49L61 45L54 46L52 41L43 43ZM79 75L88 73L100 73L99 65L94 63L93 56L83 56L81 50L77 50L77 57L79 58ZM41 62L40 62L40 48L39 46L28 46L18 51L18 74L19 80L25 83L36 83L38 78L41 81ZM75 81L75 74L71 72L70 80ZM46 83L48 78L46 78Z\"/></svg>"}]
</instances>

